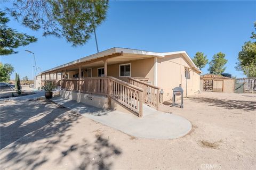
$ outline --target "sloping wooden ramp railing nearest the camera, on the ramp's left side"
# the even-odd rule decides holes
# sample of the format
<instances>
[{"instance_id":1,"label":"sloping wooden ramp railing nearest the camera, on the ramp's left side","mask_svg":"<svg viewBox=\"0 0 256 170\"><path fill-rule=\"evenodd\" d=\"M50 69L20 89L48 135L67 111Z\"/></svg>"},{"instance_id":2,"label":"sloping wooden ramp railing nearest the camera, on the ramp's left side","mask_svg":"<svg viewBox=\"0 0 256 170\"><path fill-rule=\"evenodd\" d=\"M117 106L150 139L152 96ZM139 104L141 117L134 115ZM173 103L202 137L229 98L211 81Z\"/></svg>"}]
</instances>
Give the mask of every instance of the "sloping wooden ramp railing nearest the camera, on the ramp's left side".
<instances>
[{"instance_id":1,"label":"sloping wooden ramp railing nearest the camera, on the ramp's left side","mask_svg":"<svg viewBox=\"0 0 256 170\"><path fill-rule=\"evenodd\" d=\"M108 81L110 97L142 117L143 89L113 77L109 77Z\"/></svg>"}]
</instances>

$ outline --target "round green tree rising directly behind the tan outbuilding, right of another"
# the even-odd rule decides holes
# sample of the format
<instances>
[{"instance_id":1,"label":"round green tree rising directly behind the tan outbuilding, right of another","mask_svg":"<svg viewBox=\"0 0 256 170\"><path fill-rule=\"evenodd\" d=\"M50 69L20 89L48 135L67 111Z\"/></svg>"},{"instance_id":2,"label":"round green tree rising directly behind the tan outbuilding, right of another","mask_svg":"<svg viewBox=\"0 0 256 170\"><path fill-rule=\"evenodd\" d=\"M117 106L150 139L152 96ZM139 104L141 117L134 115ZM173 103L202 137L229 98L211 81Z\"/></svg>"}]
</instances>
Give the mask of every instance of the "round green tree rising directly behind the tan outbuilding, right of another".
<instances>
[{"instance_id":1,"label":"round green tree rising directly behind the tan outbuilding, right of another","mask_svg":"<svg viewBox=\"0 0 256 170\"><path fill-rule=\"evenodd\" d=\"M212 61L209 63L210 67L208 69L210 74L222 74L226 67L225 64L228 62L228 60L225 59L224 53L217 53L213 55Z\"/></svg>"}]
</instances>

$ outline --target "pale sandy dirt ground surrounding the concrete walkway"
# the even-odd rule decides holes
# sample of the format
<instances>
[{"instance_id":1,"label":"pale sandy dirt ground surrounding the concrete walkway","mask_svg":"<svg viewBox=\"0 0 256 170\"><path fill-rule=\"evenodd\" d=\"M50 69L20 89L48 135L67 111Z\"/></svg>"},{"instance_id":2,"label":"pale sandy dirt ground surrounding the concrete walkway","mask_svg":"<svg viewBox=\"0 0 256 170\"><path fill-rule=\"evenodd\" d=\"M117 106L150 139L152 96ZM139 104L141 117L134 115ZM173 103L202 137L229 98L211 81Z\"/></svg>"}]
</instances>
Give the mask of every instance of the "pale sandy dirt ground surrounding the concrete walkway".
<instances>
[{"instance_id":1,"label":"pale sandy dirt ground surrounding the concrete walkway","mask_svg":"<svg viewBox=\"0 0 256 170\"><path fill-rule=\"evenodd\" d=\"M204 92L161 110L193 129L138 139L50 101L1 101L1 169L256 169L255 94Z\"/></svg>"}]
</instances>

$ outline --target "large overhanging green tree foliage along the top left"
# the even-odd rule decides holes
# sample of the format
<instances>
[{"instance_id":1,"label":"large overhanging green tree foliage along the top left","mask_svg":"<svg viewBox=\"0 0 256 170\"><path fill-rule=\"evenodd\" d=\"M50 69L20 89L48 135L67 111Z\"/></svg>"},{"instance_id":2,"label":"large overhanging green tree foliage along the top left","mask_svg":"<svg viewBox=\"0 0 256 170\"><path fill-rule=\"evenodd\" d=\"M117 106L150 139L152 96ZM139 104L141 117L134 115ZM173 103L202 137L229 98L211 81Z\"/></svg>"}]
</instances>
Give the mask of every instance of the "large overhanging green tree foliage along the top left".
<instances>
[{"instance_id":1,"label":"large overhanging green tree foliage along the top left","mask_svg":"<svg viewBox=\"0 0 256 170\"><path fill-rule=\"evenodd\" d=\"M7 10L25 27L43 29L43 36L64 37L78 46L106 19L108 1L14 1L13 6Z\"/></svg>"}]
</instances>

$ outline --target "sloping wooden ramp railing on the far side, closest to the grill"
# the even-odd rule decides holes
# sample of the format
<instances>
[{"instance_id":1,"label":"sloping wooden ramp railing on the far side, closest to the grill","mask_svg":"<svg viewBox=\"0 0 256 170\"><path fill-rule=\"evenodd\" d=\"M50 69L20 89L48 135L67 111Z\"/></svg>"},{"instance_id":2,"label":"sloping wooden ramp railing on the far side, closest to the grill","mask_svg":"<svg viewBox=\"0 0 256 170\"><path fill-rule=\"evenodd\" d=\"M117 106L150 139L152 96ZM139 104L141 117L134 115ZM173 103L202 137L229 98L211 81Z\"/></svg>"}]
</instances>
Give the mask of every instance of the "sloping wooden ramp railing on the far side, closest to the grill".
<instances>
[{"instance_id":1,"label":"sloping wooden ramp railing on the far side, closest to the grill","mask_svg":"<svg viewBox=\"0 0 256 170\"><path fill-rule=\"evenodd\" d=\"M160 90L159 87L153 86L149 83L134 78L129 78L129 83L143 89L143 102L158 109Z\"/></svg>"}]
</instances>

